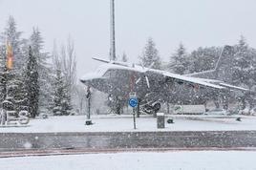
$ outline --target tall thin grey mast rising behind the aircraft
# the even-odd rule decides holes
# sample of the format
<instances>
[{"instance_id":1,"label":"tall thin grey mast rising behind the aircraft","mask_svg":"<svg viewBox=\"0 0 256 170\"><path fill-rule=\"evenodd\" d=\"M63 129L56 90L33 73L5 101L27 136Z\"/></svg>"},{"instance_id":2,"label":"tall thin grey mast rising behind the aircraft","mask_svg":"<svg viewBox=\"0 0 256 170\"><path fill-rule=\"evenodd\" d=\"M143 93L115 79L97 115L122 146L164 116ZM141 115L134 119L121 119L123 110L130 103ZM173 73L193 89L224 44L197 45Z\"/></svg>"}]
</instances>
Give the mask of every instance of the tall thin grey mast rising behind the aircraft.
<instances>
[{"instance_id":1,"label":"tall thin grey mast rising behind the aircraft","mask_svg":"<svg viewBox=\"0 0 256 170\"><path fill-rule=\"evenodd\" d=\"M115 0L110 0L110 59L116 60Z\"/></svg>"}]
</instances>

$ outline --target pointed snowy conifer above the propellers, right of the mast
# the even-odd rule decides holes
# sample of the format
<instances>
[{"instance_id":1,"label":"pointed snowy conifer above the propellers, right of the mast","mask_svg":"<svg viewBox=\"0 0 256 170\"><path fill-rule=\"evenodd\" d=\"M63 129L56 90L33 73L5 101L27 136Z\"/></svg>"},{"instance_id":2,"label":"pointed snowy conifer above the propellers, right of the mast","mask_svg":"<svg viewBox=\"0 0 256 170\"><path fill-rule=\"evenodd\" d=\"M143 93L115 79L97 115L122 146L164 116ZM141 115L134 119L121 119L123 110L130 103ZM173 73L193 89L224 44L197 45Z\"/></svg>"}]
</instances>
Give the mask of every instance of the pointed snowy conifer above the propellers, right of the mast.
<instances>
[{"instance_id":1,"label":"pointed snowy conifer above the propellers, right of the mast","mask_svg":"<svg viewBox=\"0 0 256 170\"><path fill-rule=\"evenodd\" d=\"M149 67L152 63L154 63L152 69L160 69L160 54L156 48L156 44L152 38L148 38L147 44L144 48L142 56L140 57L141 64L144 67Z\"/></svg>"}]
</instances>

